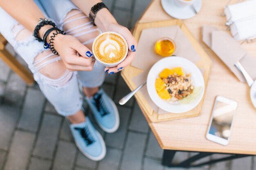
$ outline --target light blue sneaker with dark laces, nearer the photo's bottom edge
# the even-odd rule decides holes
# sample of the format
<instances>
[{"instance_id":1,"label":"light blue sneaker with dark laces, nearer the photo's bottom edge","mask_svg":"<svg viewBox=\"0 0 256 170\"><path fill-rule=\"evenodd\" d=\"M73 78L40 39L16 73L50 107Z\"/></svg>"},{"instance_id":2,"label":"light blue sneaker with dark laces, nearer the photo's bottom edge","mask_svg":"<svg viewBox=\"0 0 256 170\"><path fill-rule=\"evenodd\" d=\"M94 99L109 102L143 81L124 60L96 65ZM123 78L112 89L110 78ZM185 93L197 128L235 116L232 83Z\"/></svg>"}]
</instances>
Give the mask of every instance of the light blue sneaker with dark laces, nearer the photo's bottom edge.
<instances>
[{"instance_id":1,"label":"light blue sneaker with dark laces, nearer the photo's bottom edge","mask_svg":"<svg viewBox=\"0 0 256 170\"><path fill-rule=\"evenodd\" d=\"M93 161L103 159L106 155L106 145L101 134L92 126L90 119L86 117L85 122L79 124L70 124L68 119L67 121L76 146L83 155Z\"/></svg>"}]
</instances>

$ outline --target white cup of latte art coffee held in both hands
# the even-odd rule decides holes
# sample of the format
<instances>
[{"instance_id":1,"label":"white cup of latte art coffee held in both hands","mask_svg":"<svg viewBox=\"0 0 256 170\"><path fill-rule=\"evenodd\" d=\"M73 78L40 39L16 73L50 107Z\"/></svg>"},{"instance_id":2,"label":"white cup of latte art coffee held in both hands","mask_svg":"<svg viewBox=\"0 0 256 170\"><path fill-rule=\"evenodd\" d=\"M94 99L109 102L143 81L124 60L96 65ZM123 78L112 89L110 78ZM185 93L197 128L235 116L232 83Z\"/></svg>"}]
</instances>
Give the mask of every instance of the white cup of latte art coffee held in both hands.
<instances>
[{"instance_id":1,"label":"white cup of latte art coffee held in both hands","mask_svg":"<svg viewBox=\"0 0 256 170\"><path fill-rule=\"evenodd\" d=\"M126 58L128 44L119 33L104 32L94 39L92 53L100 64L115 67Z\"/></svg>"}]
</instances>

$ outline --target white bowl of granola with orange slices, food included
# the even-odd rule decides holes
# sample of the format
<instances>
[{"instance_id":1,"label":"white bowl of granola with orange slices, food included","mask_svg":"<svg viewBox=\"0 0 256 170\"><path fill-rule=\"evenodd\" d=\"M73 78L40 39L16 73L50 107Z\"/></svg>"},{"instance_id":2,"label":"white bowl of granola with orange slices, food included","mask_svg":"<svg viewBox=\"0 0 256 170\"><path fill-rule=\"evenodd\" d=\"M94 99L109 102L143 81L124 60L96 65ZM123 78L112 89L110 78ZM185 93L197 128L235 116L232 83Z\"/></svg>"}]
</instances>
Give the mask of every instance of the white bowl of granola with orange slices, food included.
<instances>
[{"instance_id":1,"label":"white bowl of granola with orange slices, food included","mask_svg":"<svg viewBox=\"0 0 256 170\"><path fill-rule=\"evenodd\" d=\"M184 113L202 100L204 77L191 61L182 57L165 57L150 69L147 89L152 101L162 110Z\"/></svg>"}]
</instances>

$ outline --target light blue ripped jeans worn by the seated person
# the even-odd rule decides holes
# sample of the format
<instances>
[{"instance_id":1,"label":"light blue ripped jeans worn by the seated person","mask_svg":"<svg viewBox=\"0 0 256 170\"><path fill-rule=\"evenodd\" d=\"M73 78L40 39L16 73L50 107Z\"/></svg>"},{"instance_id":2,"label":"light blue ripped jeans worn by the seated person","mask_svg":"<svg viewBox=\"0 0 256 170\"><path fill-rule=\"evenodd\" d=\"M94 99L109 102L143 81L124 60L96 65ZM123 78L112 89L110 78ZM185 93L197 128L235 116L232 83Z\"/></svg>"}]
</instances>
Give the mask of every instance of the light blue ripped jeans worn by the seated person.
<instances>
[{"instance_id":1,"label":"light blue ripped jeans worn by the seated person","mask_svg":"<svg viewBox=\"0 0 256 170\"><path fill-rule=\"evenodd\" d=\"M53 20L59 29L73 35L91 49L100 30L70 0L34 1L45 18ZM44 49L43 42L34 40L32 33L1 7L0 23L0 33L27 62L41 91L60 115L70 116L81 109L83 100L78 81L88 88L101 86L103 83L104 66L95 62L92 71L68 71L60 56Z\"/></svg>"}]
</instances>

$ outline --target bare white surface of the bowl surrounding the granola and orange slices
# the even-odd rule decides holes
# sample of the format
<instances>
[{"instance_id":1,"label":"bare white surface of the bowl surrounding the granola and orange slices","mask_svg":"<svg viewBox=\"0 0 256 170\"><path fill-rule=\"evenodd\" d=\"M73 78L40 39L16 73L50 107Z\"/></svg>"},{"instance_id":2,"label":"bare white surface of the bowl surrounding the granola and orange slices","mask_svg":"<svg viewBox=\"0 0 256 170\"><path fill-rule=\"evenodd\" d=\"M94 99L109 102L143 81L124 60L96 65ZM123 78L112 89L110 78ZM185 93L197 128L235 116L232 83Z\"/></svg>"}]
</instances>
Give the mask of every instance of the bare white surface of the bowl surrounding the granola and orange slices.
<instances>
[{"instance_id":1,"label":"bare white surface of the bowl surrounding the granola and orange slices","mask_svg":"<svg viewBox=\"0 0 256 170\"><path fill-rule=\"evenodd\" d=\"M185 74L191 73L191 79L193 81L192 84L194 87L202 86L200 95L198 95L198 97L192 103L180 104L179 102L169 102L161 99L157 95L157 91L155 89L155 80L164 68L173 67L182 67ZM195 108L195 106L197 106L201 101L204 95L204 77L199 68L191 61L182 57L164 57L156 62L150 69L147 77L147 89L150 98L159 108L170 113L184 113Z\"/></svg>"}]
</instances>

